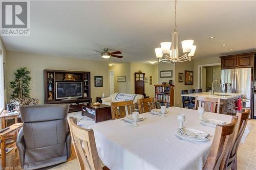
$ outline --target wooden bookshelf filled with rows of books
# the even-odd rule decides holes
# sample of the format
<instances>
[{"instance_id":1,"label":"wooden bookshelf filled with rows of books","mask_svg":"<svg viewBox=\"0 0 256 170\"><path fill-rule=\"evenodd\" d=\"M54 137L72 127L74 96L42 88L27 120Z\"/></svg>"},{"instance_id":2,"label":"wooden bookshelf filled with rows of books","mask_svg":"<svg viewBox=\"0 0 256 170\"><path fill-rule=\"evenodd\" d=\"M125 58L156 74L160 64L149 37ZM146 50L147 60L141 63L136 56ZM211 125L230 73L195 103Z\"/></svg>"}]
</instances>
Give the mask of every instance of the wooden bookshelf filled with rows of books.
<instances>
[{"instance_id":1,"label":"wooden bookshelf filled with rows of books","mask_svg":"<svg viewBox=\"0 0 256 170\"><path fill-rule=\"evenodd\" d=\"M155 99L160 103L160 106L174 106L174 85L172 84L156 84Z\"/></svg>"}]
</instances>

